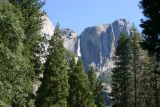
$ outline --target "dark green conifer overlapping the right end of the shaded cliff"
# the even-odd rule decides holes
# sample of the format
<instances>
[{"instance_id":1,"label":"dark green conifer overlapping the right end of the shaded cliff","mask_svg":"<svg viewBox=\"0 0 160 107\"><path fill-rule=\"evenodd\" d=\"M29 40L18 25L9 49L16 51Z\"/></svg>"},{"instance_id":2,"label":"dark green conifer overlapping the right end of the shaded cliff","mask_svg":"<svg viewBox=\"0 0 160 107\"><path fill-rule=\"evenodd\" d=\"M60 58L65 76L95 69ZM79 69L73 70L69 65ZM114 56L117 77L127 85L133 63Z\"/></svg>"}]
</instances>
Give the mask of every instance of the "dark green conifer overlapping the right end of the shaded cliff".
<instances>
[{"instance_id":1,"label":"dark green conifer overlapping the right end of the shaded cliff","mask_svg":"<svg viewBox=\"0 0 160 107\"><path fill-rule=\"evenodd\" d=\"M129 38L122 34L116 48L112 70L112 100L113 107L132 107L132 74L130 70L131 50Z\"/></svg>"}]
</instances>

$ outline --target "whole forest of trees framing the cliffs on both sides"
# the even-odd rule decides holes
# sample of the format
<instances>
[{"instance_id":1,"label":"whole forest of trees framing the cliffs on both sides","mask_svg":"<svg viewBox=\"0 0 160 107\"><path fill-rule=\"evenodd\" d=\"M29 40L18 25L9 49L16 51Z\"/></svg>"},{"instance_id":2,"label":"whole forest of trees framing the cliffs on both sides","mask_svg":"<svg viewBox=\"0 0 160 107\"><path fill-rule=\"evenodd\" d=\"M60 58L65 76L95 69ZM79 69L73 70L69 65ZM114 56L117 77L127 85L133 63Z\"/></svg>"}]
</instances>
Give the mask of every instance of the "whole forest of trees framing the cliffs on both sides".
<instances>
[{"instance_id":1,"label":"whole forest of trees framing the cliffs on both sides","mask_svg":"<svg viewBox=\"0 0 160 107\"><path fill-rule=\"evenodd\" d=\"M160 107L160 0L139 2L142 33L135 26L130 36L121 32L108 106L94 67L86 71L64 48L59 24L44 54L44 5L0 0L0 107Z\"/></svg>"}]
</instances>

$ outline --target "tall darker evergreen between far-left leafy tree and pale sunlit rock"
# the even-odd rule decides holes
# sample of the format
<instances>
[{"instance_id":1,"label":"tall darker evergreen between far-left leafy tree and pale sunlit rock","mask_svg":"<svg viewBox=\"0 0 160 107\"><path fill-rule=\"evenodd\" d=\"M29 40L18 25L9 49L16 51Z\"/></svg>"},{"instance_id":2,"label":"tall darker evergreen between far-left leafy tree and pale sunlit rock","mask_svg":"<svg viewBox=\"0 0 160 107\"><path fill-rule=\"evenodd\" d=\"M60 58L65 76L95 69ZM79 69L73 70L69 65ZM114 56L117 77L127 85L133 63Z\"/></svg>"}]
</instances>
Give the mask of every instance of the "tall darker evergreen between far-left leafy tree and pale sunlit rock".
<instances>
[{"instance_id":1,"label":"tall darker evergreen between far-left leafy tree and pale sunlit rock","mask_svg":"<svg viewBox=\"0 0 160 107\"><path fill-rule=\"evenodd\" d=\"M33 103L33 84L37 81L39 73L42 72L42 63L40 62L40 43L43 41L41 35L42 29L42 7L44 2L41 0L7 0L16 10L19 10L21 16L19 21L24 32L22 38L23 50L22 55L25 57L29 68L24 72L30 72L25 78L29 79L32 84L29 86L32 91L27 95L27 103ZM33 104L32 104L33 105ZM31 105L30 105L31 106Z\"/></svg>"}]
</instances>

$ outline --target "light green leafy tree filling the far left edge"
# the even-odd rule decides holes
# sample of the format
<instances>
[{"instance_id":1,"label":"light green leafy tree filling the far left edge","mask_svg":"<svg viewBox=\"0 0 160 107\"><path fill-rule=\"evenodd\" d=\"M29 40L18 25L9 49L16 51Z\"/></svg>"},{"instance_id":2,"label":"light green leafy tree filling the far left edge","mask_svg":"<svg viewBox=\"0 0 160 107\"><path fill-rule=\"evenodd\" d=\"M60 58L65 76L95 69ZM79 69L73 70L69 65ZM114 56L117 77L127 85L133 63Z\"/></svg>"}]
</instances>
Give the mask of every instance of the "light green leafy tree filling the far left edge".
<instances>
[{"instance_id":1,"label":"light green leafy tree filling the far left edge","mask_svg":"<svg viewBox=\"0 0 160 107\"><path fill-rule=\"evenodd\" d=\"M8 1L0 1L0 102L17 107L25 106L32 92L29 60L23 56L24 30L22 13Z\"/></svg>"}]
</instances>

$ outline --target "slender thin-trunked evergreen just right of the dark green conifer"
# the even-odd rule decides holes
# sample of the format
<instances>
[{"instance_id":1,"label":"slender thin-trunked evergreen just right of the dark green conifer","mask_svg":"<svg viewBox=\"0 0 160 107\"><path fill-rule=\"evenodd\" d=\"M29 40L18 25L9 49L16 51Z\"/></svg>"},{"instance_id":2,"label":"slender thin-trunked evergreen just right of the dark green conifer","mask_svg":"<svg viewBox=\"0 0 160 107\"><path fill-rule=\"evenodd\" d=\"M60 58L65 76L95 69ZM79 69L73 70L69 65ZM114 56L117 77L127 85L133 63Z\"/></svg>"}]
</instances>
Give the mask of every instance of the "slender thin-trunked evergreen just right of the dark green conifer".
<instances>
[{"instance_id":1,"label":"slender thin-trunked evergreen just right of the dark green conifer","mask_svg":"<svg viewBox=\"0 0 160 107\"><path fill-rule=\"evenodd\" d=\"M138 77L141 69L142 69L142 49L140 47L140 34L137 32L136 28L132 27L132 34L131 34L131 46L132 46L132 64L131 68L133 71L133 78L134 78L134 107L138 107Z\"/></svg>"}]
</instances>

